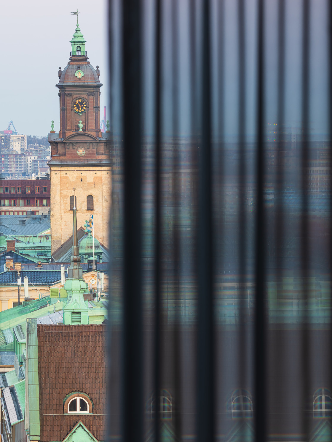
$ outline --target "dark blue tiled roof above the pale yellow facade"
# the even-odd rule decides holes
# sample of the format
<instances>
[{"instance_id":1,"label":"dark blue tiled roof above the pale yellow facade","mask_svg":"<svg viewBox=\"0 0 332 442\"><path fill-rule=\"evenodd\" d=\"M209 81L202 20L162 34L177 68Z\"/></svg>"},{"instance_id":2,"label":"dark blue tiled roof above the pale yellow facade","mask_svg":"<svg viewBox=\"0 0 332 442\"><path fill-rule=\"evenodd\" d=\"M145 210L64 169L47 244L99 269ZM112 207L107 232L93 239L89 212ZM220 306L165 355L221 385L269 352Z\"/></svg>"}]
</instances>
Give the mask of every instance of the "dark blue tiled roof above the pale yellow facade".
<instances>
[{"instance_id":1,"label":"dark blue tiled roof above the pale yellow facade","mask_svg":"<svg viewBox=\"0 0 332 442\"><path fill-rule=\"evenodd\" d=\"M27 276L28 281L31 284L37 286L50 286L54 282L61 280L61 271L45 271L45 270L30 270L21 271L20 277L23 282L23 278ZM0 285L17 285L17 272L13 270L3 271L0 273Z\"/></svg>"}]
</instances>

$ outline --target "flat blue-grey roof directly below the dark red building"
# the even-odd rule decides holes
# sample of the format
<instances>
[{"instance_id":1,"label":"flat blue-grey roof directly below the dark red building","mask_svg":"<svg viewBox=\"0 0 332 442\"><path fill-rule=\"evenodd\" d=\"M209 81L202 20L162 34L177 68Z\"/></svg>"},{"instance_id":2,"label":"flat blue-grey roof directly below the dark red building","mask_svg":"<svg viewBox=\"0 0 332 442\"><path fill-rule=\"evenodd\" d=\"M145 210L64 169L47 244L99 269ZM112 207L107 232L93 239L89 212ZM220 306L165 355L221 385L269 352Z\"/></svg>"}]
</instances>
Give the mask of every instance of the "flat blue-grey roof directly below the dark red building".
<instances>
[{"instance_id":1,"label":"flat blue-grey roof directly below the dark red building","mask_svg":"<svg viewBox=\"0 0 332 442\"><path fill-rule=\"evenodd\" d=\"M25 225L19 224L19 220L25 220ZM2 217L0 232L5 236L15 235L38 235L46 229L50 229L50 220L42 215L6 215Z\"/></svg>"}]
</instances>

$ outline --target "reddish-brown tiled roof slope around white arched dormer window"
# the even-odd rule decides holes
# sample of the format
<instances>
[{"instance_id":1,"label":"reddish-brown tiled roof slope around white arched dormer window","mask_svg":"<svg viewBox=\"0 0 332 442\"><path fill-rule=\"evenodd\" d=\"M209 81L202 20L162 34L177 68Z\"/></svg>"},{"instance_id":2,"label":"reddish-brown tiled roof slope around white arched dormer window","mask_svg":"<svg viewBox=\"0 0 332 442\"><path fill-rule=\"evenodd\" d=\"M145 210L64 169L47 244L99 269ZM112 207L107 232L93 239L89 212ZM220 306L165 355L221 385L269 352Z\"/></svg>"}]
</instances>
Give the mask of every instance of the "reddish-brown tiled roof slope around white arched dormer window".
<instances>
[{"instance_id":1,"label":"reddish-brown tiled roof slope around white arched dormer window","mask_svg":"<svg viewBox=\"0 0 332 442\"><path fill-rule=\"evenodd\" d=\"M40 440L62 441L78 420L106 440L104 325L38 325ZM73 391L93 400L93 415L63 414Z\"/></svg>"}]
</instances>

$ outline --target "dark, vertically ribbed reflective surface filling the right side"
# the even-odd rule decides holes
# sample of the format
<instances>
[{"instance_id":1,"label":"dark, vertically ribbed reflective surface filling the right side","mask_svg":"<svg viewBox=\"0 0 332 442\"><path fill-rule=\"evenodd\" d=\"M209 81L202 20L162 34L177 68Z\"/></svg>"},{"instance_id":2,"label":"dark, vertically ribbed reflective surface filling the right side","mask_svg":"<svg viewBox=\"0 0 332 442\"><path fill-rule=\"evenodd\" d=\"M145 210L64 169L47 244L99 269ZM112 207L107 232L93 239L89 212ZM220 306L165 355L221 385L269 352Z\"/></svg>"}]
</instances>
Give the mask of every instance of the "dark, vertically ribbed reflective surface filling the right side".
<instances>
[{"instance_id":1,"label":"dark, vertically ribbed reflective surface filling the right side","mask_svg":"<svg viewBox=\"0 0 332 442\"><path fill-rule=\"evenodd\" d=\"M332 440L330 17L110 0L110 440Z\"/></svg>"}]
</instances>

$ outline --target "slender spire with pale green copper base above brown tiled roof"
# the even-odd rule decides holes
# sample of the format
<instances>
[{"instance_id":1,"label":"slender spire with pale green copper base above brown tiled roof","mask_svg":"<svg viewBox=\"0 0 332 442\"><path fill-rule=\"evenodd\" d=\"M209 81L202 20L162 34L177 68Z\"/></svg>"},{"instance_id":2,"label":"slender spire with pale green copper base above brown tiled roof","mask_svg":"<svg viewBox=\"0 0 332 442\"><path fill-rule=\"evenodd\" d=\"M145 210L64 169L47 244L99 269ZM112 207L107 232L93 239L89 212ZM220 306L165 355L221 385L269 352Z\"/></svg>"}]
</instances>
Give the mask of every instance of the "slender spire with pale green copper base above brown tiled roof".
<instances>
[{"instance_id":1,"label":"slender spire with pale green copper base above brown tiled roof","mask_svg":"<svg viewBox=\"0 0 332 442\"><path fill-rule=\"evenodd\" d=\"M68 293L68 298L63 308L63 323L66 325L89 324L88 302L84 301L83 296L86 284L83 279L83 269L78 254L76 207L73 208L73 244L68 278L66 279L64 289Z\"/></svg>"}]
</instances>

